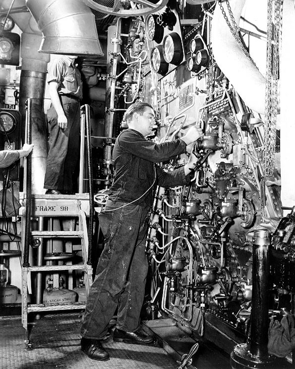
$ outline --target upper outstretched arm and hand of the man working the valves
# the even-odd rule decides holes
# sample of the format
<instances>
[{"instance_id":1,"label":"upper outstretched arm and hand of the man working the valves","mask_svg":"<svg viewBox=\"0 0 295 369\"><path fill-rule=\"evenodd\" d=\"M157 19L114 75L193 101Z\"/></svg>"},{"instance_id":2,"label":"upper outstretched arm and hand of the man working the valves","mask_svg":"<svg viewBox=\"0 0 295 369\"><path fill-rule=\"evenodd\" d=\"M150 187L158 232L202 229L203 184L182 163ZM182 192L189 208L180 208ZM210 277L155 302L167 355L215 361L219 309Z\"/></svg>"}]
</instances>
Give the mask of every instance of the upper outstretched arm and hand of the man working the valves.
<instances>
[{"instance_id":1,"label":"upper outstretched arm and hand of the man working the valves","mask_svg":"<svg viewBox=\"0 0 295 369\"><path fill-rule=\"evenodd\" d=\"M160 163L184 153L186 145L196 141L202 135L203 132L200 128L191 127L181 138L163 143L155 143L141 137L136 131L125 131L119 135L118 144L122 150L130 154L153 163Z\"/></svg>"}]
</instances>

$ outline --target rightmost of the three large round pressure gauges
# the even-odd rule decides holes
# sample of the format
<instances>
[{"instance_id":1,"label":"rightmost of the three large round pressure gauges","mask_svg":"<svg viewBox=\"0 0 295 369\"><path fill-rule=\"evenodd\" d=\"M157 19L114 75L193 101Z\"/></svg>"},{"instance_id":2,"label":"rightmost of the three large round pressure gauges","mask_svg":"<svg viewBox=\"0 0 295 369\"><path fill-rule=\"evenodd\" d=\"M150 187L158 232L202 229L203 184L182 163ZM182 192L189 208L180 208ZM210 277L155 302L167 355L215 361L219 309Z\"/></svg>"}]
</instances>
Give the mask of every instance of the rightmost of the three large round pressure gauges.
<instances>
[{"instance_id":1,"label":"rightmost of the three large round pressure gauges","mask_svg":"<svg viewBox=\"0 0 295 369\"><path fill-rule=\"evenodd\" d=\"M176 32L171 32L163 40L163 56L166 62L178 65L182 62L181 38Z\"/></svg>"}]
</instances>

